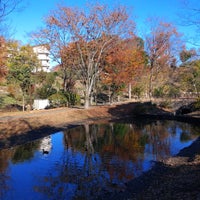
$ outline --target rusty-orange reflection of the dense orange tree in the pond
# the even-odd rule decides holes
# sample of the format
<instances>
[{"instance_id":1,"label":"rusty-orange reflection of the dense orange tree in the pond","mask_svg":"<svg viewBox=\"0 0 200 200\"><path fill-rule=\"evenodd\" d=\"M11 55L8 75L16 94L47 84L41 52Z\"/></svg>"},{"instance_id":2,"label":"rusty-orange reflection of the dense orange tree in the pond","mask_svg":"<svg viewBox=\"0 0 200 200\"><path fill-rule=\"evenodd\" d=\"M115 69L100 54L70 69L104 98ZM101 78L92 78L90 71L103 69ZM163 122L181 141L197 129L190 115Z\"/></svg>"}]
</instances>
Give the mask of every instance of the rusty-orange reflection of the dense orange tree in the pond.
<instances>
[{"instance_id":1,"label":"rusty-orange reflection of the dense orange tree in the pond","mask_svg":"<svg viewBox=\"0 0 200 200\"><path fill-rule=\"evenodd\" d=\"M100 152L104 167L111 180L133 179L143 170L144 145L140 144L143 135L128 124L110 124L107 130L108 142Z\"/></svg>"}]
</instances>

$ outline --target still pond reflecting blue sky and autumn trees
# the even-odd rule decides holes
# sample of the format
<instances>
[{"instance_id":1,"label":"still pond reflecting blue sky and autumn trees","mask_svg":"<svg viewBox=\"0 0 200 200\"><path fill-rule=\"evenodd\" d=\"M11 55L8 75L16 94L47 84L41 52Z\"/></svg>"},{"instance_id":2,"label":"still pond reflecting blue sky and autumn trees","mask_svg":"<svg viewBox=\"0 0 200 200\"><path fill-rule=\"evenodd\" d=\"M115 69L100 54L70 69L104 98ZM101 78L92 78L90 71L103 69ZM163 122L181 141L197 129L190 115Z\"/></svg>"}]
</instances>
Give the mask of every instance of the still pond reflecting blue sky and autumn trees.
<instances>
[{"instance_id":1,"label":"still pond reflecting blue sky and autumn trees","mask_svg":"<svg viewBox=\"0 0 200 200\"><path fill-rule=\"evenodd\" d=\"M120 192L199 127L175 121L77 126L0 150L0 199L93 199Z\"/></svg>"}]
</instances>

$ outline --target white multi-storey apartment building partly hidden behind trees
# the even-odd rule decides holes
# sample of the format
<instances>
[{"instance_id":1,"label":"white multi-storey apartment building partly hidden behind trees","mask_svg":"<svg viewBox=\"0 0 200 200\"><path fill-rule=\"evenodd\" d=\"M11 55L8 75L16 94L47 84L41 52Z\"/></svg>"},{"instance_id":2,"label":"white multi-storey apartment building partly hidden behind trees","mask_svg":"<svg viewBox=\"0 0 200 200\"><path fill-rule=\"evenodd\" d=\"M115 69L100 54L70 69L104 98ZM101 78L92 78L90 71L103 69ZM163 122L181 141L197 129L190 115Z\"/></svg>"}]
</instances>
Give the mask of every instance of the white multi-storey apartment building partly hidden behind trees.
<instances>
[{"instance_id":1,"label":"white multi-storey apartment building partly hidden behind trees","mask_svg":"<svg viewBox=\"0 0 200 200\"><path fill-rule=\"evenodd\" d=\"M35 72L39 71L50 72L50 57L47 46L46 45L33 46L33 51L37 54L37 57L41 63L41 67L35 69Z\"/></svg>"}]
</instances>

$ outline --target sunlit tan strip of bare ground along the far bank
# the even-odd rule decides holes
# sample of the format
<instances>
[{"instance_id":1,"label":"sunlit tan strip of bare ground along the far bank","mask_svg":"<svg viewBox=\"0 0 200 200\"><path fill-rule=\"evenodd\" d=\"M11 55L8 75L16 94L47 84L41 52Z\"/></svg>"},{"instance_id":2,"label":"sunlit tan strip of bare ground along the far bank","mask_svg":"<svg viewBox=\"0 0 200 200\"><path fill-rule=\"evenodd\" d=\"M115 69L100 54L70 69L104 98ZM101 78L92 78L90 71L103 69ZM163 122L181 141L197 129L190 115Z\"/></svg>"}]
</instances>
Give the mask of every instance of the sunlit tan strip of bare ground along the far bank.
<instances>
[{"instance_id":1,"label":"sunlit tan strip of bare ground along the far bank","mask_svg":"<svg viewBox=\"0 0 200 200\"><path fill-rule=\"evenodd\" d=\"M69 124L92 122L95 119L110 117L105 107L56 108L49 110L35 110L26 112L7 112L0 115L0 137L20 135L42 127L62 128Z\"/></svg>"}]
</instances>

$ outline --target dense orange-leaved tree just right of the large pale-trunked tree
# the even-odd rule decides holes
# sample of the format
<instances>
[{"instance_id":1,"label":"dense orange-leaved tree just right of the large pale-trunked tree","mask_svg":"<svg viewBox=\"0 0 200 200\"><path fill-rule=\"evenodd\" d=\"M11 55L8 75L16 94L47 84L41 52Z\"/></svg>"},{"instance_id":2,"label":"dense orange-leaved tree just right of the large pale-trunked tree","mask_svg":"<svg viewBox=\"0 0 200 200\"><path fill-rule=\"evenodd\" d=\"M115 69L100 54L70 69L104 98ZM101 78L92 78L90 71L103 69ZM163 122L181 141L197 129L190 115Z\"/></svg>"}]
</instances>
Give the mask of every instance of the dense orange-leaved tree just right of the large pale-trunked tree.
<instances>
[{"instance_id":1,"label":"dense orange-leaved tree just right of the large pale-trunked tree","mask_svg":"<svg viewBox=\"0 0 200 200\"><path fill-rule=\"evenodd\" d=\"M108 52L106 67L102 73L103 82L111 89L111 97L122 89L122 86L128 86L131 99L131 85L144 64L144 45L140 38L133 36L118 42L118 45Z\"/></svg>"}]
</instances>

